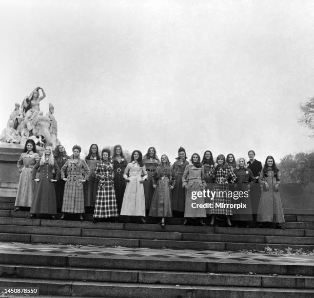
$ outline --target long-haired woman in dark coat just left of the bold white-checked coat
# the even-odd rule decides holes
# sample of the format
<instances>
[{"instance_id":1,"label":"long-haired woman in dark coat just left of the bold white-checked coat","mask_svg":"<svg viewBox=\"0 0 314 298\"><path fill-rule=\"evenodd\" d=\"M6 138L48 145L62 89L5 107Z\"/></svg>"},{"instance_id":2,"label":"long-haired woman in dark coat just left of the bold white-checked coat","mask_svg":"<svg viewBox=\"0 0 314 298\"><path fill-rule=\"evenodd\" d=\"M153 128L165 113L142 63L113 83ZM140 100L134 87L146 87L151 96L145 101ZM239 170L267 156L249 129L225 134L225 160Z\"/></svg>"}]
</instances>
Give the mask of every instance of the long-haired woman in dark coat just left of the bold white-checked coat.
<instances>
[{"instance_id":1,"label":"long-haired woman in dark coat just left of the bold white-checked coat","mask_svg":"<svg viewBox=\"0 0 314 298\"><path fill-rule=\"evenodd\" d=\"M84 183L84 205L85 207L94 207L97 195L98 180L93 176L96 165L100 162L99 149L97 144L91 144L89 153L85 157L85 162L90 169L90 177Z\"/></svg>"}]
</instances>

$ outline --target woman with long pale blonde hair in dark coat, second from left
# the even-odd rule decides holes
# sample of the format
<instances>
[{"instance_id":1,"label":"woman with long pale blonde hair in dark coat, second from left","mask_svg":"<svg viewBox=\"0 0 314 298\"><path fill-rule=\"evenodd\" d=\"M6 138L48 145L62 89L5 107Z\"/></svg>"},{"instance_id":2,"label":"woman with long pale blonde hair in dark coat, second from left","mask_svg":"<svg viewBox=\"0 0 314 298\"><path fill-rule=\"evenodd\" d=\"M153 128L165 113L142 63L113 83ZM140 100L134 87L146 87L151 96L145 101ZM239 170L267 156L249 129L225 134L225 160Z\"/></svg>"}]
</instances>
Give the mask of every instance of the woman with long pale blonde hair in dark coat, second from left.
<instances>
[{"instance_id":1,"label":"woman with long pale blonde hair in dark coat, second from left","mask_svg":"<svg viewBox=\"0 0 314 298\"><path fill-rule=\"evenodd\" d=\"M36 178L38 169L40 175L39 178ZM53 179L53 170L56 179ZM36 214L51 214L52 219L55 219L56 200L53 182L56 182L59 176L60 169L53 158L52 148L46 146L42 158L36 162L32 169L32 178L36 181L36 188L29 218L35 218Z\"/></svg>"}]
</instances>

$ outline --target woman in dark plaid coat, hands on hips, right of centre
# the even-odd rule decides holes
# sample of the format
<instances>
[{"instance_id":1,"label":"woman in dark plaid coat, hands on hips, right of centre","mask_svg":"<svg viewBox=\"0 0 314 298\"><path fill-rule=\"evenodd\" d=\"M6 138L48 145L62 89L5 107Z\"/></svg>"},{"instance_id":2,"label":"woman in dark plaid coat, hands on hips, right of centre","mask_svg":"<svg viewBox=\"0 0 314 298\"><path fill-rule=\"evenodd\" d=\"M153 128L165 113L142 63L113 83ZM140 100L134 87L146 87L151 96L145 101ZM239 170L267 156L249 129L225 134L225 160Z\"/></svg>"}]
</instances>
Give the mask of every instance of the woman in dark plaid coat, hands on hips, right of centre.
<instances>
[{"instance_id":1,"label":"woman in dark plaid coat, hands on hips, right of centre","mask_svg":"<svg viewBox=\"0 0 314 298\"><path fill-rule=\"evenodd\" d=\"M214 164L214 168L211 169L209 176L215 179L212 190L213 191L222 191L223 193L219 193L213 197L211 203L213 204L213 208L211 208L211 221L210 225L214 224L215 215L217 214L225 214L227 217L227 226L231 227L230 215L232 215L232 210L230 206L219 207L217 204L231 204L231 198L226 196L229 191L228 181L230 183L234 183L237 180L237 176L231 171L231 169L226 165L226 158L224 155L219 155Z\"/></svg>"}]
</instances>

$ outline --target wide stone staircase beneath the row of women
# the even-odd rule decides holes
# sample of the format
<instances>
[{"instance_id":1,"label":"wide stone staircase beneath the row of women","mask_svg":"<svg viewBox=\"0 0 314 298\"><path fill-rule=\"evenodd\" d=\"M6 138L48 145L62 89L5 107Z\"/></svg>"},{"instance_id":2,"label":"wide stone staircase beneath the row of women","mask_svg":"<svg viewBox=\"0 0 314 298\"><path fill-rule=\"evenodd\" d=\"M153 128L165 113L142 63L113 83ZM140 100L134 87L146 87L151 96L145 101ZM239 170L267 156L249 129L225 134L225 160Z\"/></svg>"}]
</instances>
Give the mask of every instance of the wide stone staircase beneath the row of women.
<instances>
[{"instance_id":1,"label":"wide stone staircase beneath the row of women","mask_svg":"<svg viewBox=\"0 0 314 298\"><path fill-rule=\"evenodd\" d=\"M0 183L0 241L33 244L34 249L0 250L2 295L4 288L18 287L38 288L47 296L314 297L314 258L310 257L314 249L313 216L286 215L285 230L253 225L230 228L223 226L224 220L215 227L198 226L197 222L182 226L179 218L168 219L164 228L150 218L148 224L94 224L92 215L86 215L84 222L45 216L28 219L28 211L13 211L16 186ZM36 250L39 243L121 246L129 247L130 253L51 253ZM143 248L155 249L156 253L140 256L136 249ZM168 249L209 252L204 258L184 253L163 256L160 251L167 254ZM261 256L257 251L277 254L269 255L271 261L224 259L210 253L214 250L250 250L250 256L252 252ZM284 261L280 250L290 255L297 251L299 256L303 254L303 261Z\"/></svg>"}]
</instances>

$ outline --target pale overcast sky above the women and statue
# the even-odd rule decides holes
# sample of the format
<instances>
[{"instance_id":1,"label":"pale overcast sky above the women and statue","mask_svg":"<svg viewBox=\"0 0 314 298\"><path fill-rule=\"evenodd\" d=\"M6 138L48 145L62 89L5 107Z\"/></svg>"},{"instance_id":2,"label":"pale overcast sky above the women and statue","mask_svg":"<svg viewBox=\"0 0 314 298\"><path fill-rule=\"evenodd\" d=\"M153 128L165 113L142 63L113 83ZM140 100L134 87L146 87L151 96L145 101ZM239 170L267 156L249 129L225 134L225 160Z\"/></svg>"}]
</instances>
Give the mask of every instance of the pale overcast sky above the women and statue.
<instances>
[{"instance_id":1,"label":"pale overcast sky above the women and statue","mask_svg":"<svg viewBox=\"0 0 314 298\"><path fill-rule=\"evenodd\" d=\"M314 1L0 1L0 124L37 86L71 152L313 150ZM2 128L3 128L2 127Z\"/></svg>"}]
</instances>

